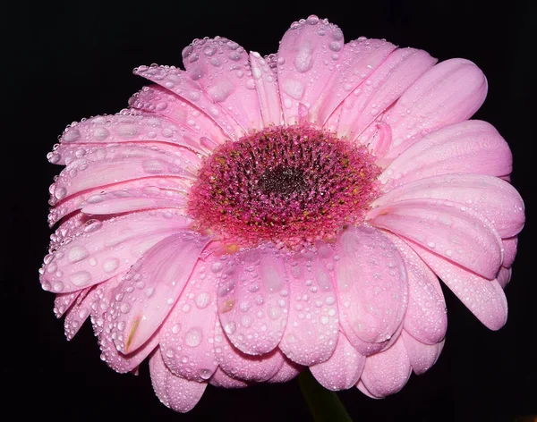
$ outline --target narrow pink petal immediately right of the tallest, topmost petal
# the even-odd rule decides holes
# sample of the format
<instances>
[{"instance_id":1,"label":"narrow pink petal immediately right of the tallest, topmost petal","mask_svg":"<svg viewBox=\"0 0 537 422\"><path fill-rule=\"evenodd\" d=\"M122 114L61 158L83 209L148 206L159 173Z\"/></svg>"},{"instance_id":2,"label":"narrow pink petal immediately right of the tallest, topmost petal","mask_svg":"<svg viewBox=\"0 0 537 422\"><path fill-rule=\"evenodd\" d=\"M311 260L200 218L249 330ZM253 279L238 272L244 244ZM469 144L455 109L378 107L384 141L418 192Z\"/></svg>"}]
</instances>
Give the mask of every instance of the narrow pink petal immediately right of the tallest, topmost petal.
<instances>
[{"instance_id":1,"label":"narrow pink petal immediately right of the tallest, topmost petal","mask_svg":"<svg viewBox=\"0 0 537 422\"><path fill-rule=\"evenodd\" d=\"M320 100L313 107L313 117L317 116L321 124L326 123L328 117L334 113L345 97L376 71L395 49L396 46L385 40L365 37L345 44L341 54L340 68L328 81Z\"/></svg>"}]
</instances>

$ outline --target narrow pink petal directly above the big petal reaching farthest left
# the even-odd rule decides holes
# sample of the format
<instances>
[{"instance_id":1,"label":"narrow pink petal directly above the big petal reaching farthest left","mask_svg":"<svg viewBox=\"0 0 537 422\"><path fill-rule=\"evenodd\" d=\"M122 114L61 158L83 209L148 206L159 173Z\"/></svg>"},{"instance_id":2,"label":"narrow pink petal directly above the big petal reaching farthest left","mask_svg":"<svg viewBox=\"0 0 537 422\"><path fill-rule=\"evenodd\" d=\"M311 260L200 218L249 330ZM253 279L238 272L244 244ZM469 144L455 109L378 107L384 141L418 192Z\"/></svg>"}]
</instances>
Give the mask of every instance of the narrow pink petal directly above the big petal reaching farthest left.
<instances>
[{"instance_id":1,"label":"narrow pink petal directly above the big petal reaching farthest left","mask_svg":"<svg viewBox=\"0 0 537 422\"><path fill-rule=\"evenodd\" d=\"M57 223L65 215L83 209L87 214L107 215L161 207L184 207L192 182L179 177L144 177L132 181L97 186L65 198L50 209L48 222Z\"/></svg>"}]
</instances>

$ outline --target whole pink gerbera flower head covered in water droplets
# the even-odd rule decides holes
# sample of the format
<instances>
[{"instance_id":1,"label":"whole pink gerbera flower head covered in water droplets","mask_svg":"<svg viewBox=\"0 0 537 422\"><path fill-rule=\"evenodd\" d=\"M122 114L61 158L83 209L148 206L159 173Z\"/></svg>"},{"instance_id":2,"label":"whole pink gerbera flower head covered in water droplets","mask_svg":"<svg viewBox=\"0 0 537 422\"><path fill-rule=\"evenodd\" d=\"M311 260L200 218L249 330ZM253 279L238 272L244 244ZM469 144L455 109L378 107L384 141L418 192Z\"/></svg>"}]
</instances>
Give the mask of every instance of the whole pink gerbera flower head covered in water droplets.
<instances>
[{"instance_id":1,"label":"whole pink gerbera flower head covered in water droplets","mask_svg":"<svg viewBox=\"0 0 537 422\"><path fill-rule=\"evenodd\" d=\"M309 367L372 397L429 369L447 317L439 278L492 330L524 225L511 154L468 120L487 82L316 16L276 55L195 39L185 71L115 115L72 123L48 156L40 270L68 339L90 316L118 372L149 358L160 401L207 384L285 382Z\"/></svg>"}]
</instances>

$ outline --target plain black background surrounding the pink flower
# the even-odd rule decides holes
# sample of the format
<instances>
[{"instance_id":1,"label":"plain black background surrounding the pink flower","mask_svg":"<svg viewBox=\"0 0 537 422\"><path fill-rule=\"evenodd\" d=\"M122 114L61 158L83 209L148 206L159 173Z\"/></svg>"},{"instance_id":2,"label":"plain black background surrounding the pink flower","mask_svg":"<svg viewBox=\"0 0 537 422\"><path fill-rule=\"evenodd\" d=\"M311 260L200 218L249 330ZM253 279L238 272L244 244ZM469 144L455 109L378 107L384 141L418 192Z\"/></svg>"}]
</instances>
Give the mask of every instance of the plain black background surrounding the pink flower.
<instances>
[{"instance_id":1,"label":"plain black background surrounding the pink flower","mask_svg":"<svg viewBox=\"0 0 537 422\"><path fill-rule=\"evenodd\" d=\"M292 21L315 13L337 23L345 39L387 38L445 60L465 57L489 80L476 115L491 122L514 154L512 181L527 224L507 287L509 318L490 332L449 292L446 347L402 392L373 401L340 392L354 420L514 420L537 414L537 333L533 239L535 105L532 83L535 9L527 2L337 1L322 5L251 0L45 2L4 9L4 152L2 209L2 413L63 420L312 420L296 381L247 390L210 387L186 415L159 403L149 370L118 375L98 359L89 323L68 343L41 291L38 267L47 253L47 187L60 167L47 152L64 126L113 114L144 81L139 64L181 64L192 38L225 36L267 55ZM3 6L5 8L5 6ZM7 116L5 115L7 113ZM4 249L3 247L3 249ZM11 420L11 419L10 419Z\"/></svg>"}]
</instances>

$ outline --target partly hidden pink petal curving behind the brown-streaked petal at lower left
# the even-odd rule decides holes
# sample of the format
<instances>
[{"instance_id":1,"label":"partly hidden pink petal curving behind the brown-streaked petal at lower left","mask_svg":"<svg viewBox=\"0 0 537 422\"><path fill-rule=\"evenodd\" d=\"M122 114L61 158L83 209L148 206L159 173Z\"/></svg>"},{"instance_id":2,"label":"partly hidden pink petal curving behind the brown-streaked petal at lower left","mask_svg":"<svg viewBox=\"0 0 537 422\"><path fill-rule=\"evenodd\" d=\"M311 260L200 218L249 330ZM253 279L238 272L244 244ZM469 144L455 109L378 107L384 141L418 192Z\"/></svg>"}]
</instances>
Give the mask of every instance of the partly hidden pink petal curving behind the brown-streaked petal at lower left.
<instances>
[{"instance_id":1,"label":"partly hidden pink petal curving behind the brown-streaked petal at lower left","mask_svg":"<svg viewBox=\"0 0 537 422\"><path fill-rule=\"evenodd\" d=\"M124 283L124 275L99 284L96 287L98 300L91 304L91 324L95 335L98 336L98 345L102 352L101 359L121 374L139 367L143 359L146 359L149 353L158 346L157 335L153 335L141 348L128 355L121 353L115 346L115 336L111 333L115 322L110 314L110 308L119 297L117 296L118 286Z\"/></svg>"}]
</instances>

